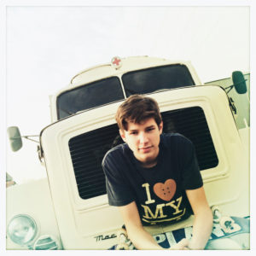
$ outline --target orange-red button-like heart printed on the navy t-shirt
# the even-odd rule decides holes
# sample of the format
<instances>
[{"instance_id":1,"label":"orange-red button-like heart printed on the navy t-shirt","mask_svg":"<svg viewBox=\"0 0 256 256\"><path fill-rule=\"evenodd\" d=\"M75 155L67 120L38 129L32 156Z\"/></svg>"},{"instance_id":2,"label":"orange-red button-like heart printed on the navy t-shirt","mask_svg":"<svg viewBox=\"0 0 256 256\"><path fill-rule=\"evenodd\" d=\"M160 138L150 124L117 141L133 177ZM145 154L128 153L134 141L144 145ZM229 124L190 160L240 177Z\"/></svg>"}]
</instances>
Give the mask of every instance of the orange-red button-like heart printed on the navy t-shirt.
<instances>
[{"instance_id":1,"label":"orange-red button-like heart printed on the navy t-shirt","mask_svg":"<svg viewBox=\"0 0 256 256\"><path fill-rule=\"evenodd\" d=\"M164 201L171 201L176 192L176 182L169 178L165 183L154 184L154 194Z\"/></svg>"}]
</instances>

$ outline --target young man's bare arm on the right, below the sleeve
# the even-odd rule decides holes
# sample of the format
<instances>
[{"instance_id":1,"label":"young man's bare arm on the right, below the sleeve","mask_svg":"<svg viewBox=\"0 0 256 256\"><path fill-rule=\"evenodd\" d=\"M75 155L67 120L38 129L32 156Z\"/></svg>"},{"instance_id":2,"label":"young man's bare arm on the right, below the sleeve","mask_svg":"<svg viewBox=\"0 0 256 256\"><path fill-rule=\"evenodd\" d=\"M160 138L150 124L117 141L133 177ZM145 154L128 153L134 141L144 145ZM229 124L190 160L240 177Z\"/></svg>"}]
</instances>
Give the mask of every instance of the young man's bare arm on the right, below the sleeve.
<instances>
[{"instance_id":1,"label":"young man's bare arm on the right, below the sleeve","mask_svg":"<svg viewBox=\"0 0 256 256\"><path fill-rule=\"evenodd\" d=\"M204 249L212 233L212 211L208 206L203 187L186 190L186 194L195 214L193 237L189 241L189 248Z\"/></svg>"}]
</instances>

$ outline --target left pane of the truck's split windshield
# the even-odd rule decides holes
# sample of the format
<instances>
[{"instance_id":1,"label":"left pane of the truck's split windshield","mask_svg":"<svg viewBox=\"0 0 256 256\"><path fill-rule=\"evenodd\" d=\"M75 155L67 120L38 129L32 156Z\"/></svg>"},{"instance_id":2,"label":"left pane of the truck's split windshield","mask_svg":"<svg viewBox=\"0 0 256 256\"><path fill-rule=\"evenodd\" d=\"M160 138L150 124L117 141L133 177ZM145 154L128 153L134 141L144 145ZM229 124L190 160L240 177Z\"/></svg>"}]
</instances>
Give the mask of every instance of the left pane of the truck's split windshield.
<instances>
[{"instance_id":1,"label":"left pane of the truck's split windshield","mask_svg":"<svg viewBox=\"0 0 256 256\"><path fill-rule=\"evenodd\" d=\"M112 77L63 92L57 98L58 119L124 98L119 78Z\"/></svg>"}]
</instances>

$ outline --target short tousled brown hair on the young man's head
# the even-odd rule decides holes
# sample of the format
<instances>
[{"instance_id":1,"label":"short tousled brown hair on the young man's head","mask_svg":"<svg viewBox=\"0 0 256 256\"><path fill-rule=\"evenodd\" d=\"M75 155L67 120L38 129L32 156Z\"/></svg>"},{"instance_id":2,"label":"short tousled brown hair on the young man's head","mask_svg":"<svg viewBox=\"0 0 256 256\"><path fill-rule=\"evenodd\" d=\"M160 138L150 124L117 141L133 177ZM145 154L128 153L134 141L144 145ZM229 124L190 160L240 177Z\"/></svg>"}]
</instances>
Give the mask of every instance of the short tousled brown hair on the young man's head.
<instances>
[{"instance_id":1,"label":"short tousled brown hair on the young man's head","mask_svg":"<svg viewBox=\"0 0 256 256\"><path fill-rule=\"evenodd\" d=\"M127 131L128 122L140 124L143 120L154 118L160 126L162 121L158 103L150 97L132 95L123 102L115 115L120 130Z\"/></svg>"}]
</instances>

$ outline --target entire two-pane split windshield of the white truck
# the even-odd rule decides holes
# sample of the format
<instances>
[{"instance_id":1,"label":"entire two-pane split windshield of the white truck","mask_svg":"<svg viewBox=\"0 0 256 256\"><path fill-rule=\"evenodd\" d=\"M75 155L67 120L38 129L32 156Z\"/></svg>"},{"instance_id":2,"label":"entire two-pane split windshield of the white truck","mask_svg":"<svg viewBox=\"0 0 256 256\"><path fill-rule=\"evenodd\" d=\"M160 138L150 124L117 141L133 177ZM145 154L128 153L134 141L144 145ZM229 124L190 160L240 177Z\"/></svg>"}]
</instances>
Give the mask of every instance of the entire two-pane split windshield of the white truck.
<instances>
[{"instance_id":1,"label":"entire two-pane split windshield of the white truck","mask_svg":"<svg viewBox=\"0 0 256 256\"><path fill-rule=\"evenodd\" d=\"M57 97L58 119L81 110L117 102L132 94L147 94L157 90L195 85L188 67L181 64L150 67L125 73L122 82L125 96L118 77L102 79L63 92Z\"/></svg>"}]
</instances>

